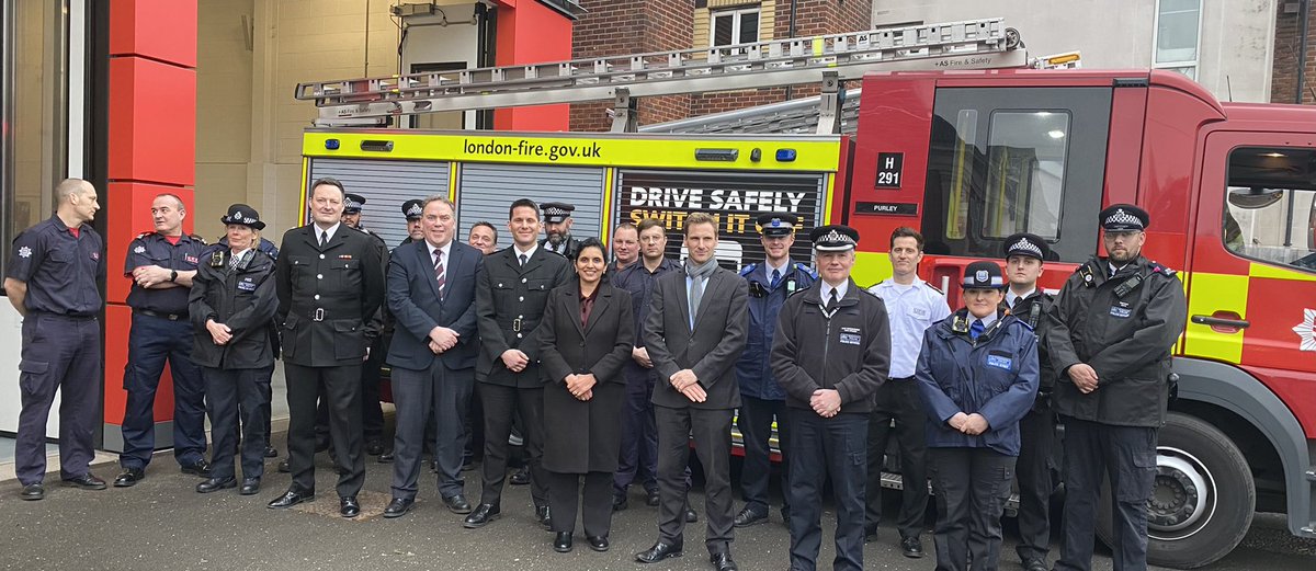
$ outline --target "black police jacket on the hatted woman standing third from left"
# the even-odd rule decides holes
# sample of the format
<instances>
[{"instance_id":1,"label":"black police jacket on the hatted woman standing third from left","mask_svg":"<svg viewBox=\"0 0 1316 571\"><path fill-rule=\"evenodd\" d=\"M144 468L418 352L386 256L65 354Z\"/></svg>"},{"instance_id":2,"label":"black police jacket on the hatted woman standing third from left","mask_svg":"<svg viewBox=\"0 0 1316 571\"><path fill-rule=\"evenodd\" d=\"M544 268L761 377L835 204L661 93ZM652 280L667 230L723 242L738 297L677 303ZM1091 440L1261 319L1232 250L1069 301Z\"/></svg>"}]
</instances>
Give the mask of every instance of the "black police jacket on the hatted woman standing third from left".
<instances>
[{"instance_id":1,"label":"black police jacket on the hatted woman standing third from left","mask_svg":"<svg viewBox=\"0 0 1316 571\"><path fill-rule=\"evenodd\" d=\"M263 368L274 364L270 322L279 308L274 258L255 250L229 270L233 251L213 251L196 270L188 316L196 329L192 362L213 368ZM229 326L233 338L215 345L205 321Z\"/></svg>"}]
</instances>

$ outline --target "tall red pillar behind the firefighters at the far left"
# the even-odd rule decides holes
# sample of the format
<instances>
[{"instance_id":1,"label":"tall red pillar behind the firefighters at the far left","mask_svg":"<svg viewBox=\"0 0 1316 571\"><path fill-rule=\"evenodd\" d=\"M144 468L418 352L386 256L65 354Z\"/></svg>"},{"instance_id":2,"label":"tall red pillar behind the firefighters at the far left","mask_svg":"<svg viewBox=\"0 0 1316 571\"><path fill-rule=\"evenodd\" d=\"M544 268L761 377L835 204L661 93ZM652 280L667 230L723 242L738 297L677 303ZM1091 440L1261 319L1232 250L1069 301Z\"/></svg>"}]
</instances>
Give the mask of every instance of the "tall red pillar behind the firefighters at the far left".
<instances>
[{"instance_id":1,"label":"tall red pillar behind the firefighters at the far left","mask_svg":"<svg viewBox=\"0 0 1316 571\"><path fill-rule=\"evenodd\" d=\"M132 312L124 300L128 243L153 232L151 200L183 199L192 232L196 171L196 0L114 0L109 8L109 147L105 212L105 434L121 450L124 364ZM155 397L155 445L172 446L174 387L166 370Z\"/></svg>"}]
</instances>

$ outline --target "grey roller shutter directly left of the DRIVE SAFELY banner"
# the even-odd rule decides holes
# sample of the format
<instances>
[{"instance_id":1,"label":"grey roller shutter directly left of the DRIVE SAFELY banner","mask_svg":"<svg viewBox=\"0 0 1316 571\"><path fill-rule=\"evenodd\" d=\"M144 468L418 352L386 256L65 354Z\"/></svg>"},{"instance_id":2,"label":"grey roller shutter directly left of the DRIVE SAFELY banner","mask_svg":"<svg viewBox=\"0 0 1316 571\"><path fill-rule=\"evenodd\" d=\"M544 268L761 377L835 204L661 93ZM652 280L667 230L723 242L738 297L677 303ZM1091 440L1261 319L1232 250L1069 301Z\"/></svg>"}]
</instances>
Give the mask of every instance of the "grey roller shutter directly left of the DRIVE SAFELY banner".
<instances>
[{"instance_id":1,"label":"grey roller shutter directly left of the DRIVE SAFELY banner","mask_svg":"<svg viewBox=\"0 0 1316 571\"><path fill-rule=\"evenodd\" d=\"M445 163L446 164L446 163ZM462 164L457 192L458 234L465 238L479 221L497 228L497 246L507 247L508 207L513 200L567 203L571 213L571 237L600 236L603 220L603 168L546 167L542 164Z\"/></svg>"}]
</instances>

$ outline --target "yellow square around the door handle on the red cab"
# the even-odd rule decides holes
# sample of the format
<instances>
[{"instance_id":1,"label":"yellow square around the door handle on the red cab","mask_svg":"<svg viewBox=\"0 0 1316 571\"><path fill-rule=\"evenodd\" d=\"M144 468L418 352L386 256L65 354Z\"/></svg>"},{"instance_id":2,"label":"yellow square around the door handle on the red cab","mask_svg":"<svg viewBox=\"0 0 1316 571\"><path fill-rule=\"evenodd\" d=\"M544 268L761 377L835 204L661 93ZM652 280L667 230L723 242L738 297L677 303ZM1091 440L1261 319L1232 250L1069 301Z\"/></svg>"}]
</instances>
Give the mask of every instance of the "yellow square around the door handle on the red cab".
<instances>
[{"instance_id":1,"label":"yellow square around the door handle on the red cab","mask_svg":"<svg viewBox=\"0 0 1316 571\"><path fill-rule=\"evenodd\" d=\"M1217 310L1234 312L1248 318L1248 280L1245 275L1192 272L1188 276L1188 314L1209 316ZM1183 353L1192 357L1238 363L1242 360L1242 337L1245 329L1237 333L1220 333L1209 325L1194 324L1183 332Z\"/></svg>"}]
</instances>

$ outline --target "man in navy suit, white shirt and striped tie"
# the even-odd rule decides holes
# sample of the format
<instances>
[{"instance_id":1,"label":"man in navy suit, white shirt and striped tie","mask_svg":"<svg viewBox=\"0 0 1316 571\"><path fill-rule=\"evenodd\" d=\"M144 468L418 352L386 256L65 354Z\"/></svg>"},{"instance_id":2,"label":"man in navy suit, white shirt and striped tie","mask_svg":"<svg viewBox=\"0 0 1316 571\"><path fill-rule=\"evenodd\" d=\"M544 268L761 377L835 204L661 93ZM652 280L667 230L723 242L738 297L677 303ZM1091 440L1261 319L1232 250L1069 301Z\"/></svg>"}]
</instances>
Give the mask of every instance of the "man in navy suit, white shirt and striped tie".
<instances>
[{"instance_id":1,"label":"man in navy suit, white shirt and striped tie","mask_svg":"<svg viewBox=\"0 0 1316 571\"><path fill-rule=\"evenodd\" d=\"M393 499L384 517L407 514L416 503L425 421L438 422L434 457L438 492L453 513L470 513L462 495L466 407L475 383L475 276L484 254L453 239L457 214L445 196L421 207L425 238L393 251L388 263L388 309L397 328L388 350L397 435Z\"/></svg>"}]
</instances>

